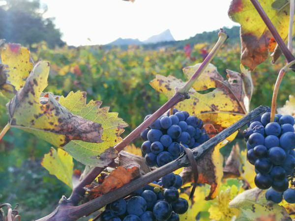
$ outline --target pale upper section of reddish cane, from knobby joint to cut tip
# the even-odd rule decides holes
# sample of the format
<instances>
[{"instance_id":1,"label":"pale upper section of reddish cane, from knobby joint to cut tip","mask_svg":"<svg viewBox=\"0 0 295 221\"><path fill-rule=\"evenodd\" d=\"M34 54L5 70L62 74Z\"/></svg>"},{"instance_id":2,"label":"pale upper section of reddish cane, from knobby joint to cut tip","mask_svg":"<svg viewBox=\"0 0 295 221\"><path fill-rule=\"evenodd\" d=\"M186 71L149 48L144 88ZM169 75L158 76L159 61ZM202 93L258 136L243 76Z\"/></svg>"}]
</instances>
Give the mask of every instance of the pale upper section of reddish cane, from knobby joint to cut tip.
<instances>
[{"instance_id":1,"label":"pale upper section of reddish cane, from knobby joint to cut tip","mask_svg":"<svg viewBox=\"0 0 295 221\"><path fill-rule=\"evenodd\" d=\"M193 86L193 84L197 81L199 76L203 73L203 71L206 69L210 61L213 59L213 57L217 54L221 46L224 44L226 39L228 39L228 35L226 32L220 28L220 31L218 33L218 41L210 51L210 53L206 56L198 70L192 75L192 77L188 80L187 83L182 88L177 88L177 92L179 93L188 93L189 89Z\"/></svg>"}]
</instances>

